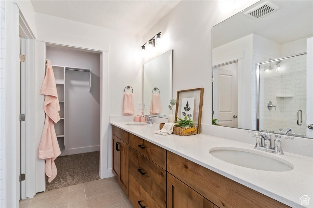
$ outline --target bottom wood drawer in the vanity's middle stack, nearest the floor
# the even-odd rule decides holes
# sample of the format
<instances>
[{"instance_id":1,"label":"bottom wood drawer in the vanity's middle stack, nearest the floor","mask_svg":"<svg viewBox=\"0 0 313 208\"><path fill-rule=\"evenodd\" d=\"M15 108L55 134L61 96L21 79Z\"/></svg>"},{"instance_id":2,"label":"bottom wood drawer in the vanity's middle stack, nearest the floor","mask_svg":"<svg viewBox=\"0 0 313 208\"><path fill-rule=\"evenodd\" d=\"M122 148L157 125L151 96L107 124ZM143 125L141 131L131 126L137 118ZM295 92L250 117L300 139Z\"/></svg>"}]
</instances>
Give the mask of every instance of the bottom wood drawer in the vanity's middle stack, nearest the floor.
<instances>
[{"instance_id":1,"label":"bottom wood drawer in the vanity's middle stack, nearest the floor","mask_svg":"<svg viewBox=\"0 0 313 208\"><path fill-rule=\"evenodd\" d=\"M134 177L129 173L129 195L131 203L134 207L141 208L141 206L149 208L160 208L149 194L139 185ZM139 205L139 203L141 206Z\"/></svg>"}]
</instances>

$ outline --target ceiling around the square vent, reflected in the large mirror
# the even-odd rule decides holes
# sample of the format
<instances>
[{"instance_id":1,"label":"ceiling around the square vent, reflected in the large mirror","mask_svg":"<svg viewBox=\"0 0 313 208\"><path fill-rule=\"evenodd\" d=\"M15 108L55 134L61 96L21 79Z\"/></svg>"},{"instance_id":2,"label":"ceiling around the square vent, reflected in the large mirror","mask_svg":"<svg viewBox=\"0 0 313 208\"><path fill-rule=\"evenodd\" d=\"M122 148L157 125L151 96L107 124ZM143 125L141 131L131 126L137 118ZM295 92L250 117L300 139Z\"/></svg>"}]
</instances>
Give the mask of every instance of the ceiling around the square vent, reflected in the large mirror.
<instances>
[{"instance_id":1,"label":"ceiling around the square vent, reflected in the large mirror","mask_svg":"<svg viewBox=\"0 0 313 208\"><path fill-rule=\"evenodd\" d=\"M283 44L313 35L313 1L270 0L279 7L259 19L244 12L265 1L260 1L235 14L212 29L213 48L237 40L251 33Z\"/></svg>"}]
</instances>

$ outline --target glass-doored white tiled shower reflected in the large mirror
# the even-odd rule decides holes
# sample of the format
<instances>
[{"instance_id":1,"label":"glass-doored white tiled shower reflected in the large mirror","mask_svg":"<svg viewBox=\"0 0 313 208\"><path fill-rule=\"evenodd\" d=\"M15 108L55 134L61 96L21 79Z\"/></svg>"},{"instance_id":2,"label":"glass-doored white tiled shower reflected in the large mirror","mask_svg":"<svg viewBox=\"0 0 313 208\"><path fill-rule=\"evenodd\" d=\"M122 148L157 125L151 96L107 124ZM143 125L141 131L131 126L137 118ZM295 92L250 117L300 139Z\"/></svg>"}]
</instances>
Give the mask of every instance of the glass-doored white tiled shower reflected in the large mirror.
<instances>
[{"instance_id":1,"label":"glass-doored white tiled shower reflected in the large mirror","mask_svg":"<svg viewBox=\"0 0 313 208\"><path fill-rule=\"evenodd\" d=\"M306 136L306 53L258 63L257 130Z\"/></svg>"}]
</instances>

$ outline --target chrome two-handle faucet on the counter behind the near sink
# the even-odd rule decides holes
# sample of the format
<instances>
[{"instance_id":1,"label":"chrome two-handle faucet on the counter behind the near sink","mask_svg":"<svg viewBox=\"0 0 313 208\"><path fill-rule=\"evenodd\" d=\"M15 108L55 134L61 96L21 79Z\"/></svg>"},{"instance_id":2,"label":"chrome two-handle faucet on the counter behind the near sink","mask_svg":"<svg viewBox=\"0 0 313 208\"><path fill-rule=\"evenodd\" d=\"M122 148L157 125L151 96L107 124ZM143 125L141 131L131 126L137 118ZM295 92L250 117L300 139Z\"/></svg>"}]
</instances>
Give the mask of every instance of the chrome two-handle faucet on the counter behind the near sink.
<instances>
[{"instance_id":1,"label":"chrome two-handle faucet on the counter behind the near sink","mask_svg":"<svg viewBox=\"0 0 313 208\"><path fill-rule=\"evenodd\" d=\"M284 152L281 148L281 140L280 138L285 138L285 139L293 139L293 137L290 136L284 136L280 134L275 135L275 140L274 140L274 147L272 148L272 142L271 142L271 134L267 132L266 134L263 134L261 132L254 132L253 137L256 137L256 144L254 149L262 150L265 152L271 152L279 155L283 155ZM264 139L264 145L262 143L262 139Z\"/></svg>"}]
</instances>

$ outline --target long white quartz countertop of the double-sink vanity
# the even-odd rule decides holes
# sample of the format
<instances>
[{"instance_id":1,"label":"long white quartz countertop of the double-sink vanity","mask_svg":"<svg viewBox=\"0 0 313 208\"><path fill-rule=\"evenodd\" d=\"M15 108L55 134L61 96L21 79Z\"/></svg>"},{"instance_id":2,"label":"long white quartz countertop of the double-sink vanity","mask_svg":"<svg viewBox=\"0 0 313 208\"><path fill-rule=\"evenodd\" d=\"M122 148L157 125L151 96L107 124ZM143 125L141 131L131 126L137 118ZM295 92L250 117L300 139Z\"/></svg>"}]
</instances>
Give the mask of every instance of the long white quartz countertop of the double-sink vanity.
<instances>
[{"instance_id":1,"label":"long white quartz countertop of the double-sink vanity","mask_svg":"<svg viewBox=\"0 0 313 208\"><path fill-rule=\"evenodd\" d=\"M154 131L159 130L159 124L127 126L125 125L126 123L136 122L110 123L288 206L313 207L313 158L311 157L289 152L284 152L284 155L276 155L255 150L254 145L251 144L206 134L185 137L175 134L167 136L154 134ZM240 135L234 135L234 137L240 137ZM262 152L267 157L290 162L294 169L286 172L271 172L233 165L219 160L209 153L210 149L221 147L242 148ZM311 198L309 206L301 205L300 197L304 195L308 195ZM262 202L260 201L260 203Z\"/></svg>"}]
</instances>

